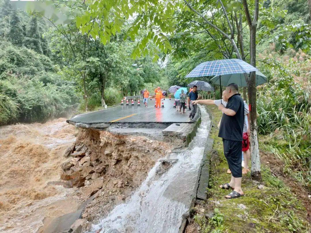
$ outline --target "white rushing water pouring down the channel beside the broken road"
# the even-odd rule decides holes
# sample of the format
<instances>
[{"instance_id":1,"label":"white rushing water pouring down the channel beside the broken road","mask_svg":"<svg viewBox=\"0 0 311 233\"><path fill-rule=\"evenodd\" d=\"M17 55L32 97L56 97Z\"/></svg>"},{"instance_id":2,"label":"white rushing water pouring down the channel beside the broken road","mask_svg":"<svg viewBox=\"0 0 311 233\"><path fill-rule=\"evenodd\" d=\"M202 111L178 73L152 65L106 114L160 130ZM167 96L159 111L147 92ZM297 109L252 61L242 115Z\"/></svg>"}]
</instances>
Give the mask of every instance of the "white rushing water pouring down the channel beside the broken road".
<instances>
[{"instance_id":1,"label":"white rushing water pouring down the channel beside the broken road","mask_svg":"<svg viewBox=\"0 0 311 233\"><path fill-rule=\"evenodd\" d=\"M200 110L202 122L187 150L168 156L178 161L160 177L157 176L160 162L157 162L132 197L93 225L91 232L99 229L104 233L178 232L182 215L190 207L209 134L209 116L204 107L200 106Z\"/></svg>"}]
</instances>

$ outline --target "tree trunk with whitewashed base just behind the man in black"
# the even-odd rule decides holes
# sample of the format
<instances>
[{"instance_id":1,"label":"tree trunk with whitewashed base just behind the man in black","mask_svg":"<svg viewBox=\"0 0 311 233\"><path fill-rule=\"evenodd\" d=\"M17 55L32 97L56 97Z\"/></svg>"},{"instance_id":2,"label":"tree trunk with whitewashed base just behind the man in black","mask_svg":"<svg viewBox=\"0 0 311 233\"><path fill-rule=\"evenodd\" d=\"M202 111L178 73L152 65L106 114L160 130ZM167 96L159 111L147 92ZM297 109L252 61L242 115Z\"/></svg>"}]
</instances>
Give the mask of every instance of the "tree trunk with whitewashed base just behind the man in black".
<instances>
[{"instance_id":1,"label":"tree trunk with whitewashed base just behind the man in black","mask_svg":"<svg viewBox=\"0 0 311 233\"><path fill-rule=\"evenodd\" d=\"M256 67L256 27L252 25L250 27L250 58L251 65ZM259 144L257 134L257 108L256 108L256 76L255 71L251 72L247 82L248 89L248 101L250 104L250 154L251 154L251 176L254 180L262 180L260 171L260 157L259 157Z\"/></svg>"}]
</instances>

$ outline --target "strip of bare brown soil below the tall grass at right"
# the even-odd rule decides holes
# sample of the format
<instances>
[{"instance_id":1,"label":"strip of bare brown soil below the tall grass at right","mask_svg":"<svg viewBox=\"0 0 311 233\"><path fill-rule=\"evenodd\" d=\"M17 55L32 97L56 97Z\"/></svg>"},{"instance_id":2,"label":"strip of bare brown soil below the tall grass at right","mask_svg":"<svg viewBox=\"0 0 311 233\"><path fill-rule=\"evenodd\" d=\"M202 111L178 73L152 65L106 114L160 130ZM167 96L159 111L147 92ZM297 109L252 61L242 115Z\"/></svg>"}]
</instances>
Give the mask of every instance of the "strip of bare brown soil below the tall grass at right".
<instances>
[{"instance_id":1,"label":"strip of bare brown soil below the tall grass at right","mask_svg":"<svg viewBox=\"0 0 311 233\"><path fill-rule=\"evenodd\" d=\"M308 197L311 193L307 188L283 173L284 163L271 153L260 152L261 162L270 168L272 173L290 187L290 190L297 196L307 211L307 220L311 223L311 199Z\"/></svg>"}]
</instances>

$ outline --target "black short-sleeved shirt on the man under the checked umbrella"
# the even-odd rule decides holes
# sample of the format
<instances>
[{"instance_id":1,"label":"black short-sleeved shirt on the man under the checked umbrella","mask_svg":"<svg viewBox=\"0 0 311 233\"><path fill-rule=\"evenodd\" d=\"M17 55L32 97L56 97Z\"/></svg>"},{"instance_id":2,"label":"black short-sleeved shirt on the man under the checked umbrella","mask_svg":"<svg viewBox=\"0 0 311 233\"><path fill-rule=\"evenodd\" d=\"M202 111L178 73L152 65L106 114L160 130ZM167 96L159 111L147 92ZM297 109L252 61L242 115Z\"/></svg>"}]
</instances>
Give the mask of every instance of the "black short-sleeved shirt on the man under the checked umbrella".
<instances>
[{"instance_id":1,"label":"black short-sleeved shirt on the man under the checked umbrella","mask_svg":"<svg viewBox=\"0 0 311 233\"><path fill-rule=\"evenodd\" d=\"M234 94L228 99L225 108L233 110L234 116L222 114L218 137L232 140L242 141L244 126L244 102L240 94Z\"/></svg>"}]
</instances>

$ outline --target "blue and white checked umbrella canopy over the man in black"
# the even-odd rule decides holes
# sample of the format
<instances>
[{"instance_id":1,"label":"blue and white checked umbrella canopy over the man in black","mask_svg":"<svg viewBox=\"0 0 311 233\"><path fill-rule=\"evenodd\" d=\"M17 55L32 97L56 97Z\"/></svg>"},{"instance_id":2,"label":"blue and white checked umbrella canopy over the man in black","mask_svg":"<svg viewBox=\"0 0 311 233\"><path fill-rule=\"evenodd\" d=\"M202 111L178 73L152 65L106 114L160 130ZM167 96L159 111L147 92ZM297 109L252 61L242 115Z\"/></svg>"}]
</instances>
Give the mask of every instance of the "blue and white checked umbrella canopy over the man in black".
<instances>
[{"instance_id":1,"label":"blue and white checked umbrella canopy over the man in black","mask_svg":"<svg viewBox=\"0 0 311 233\"><path fill-rule=\"evenodd\" d=\"M211 75L227 75L236 73L249 73L258 71L254 66L249 65L240 59L223 59L210 62L203 62L195 67L186 78L203 77Z\"/></svg>"}]
</instances>

